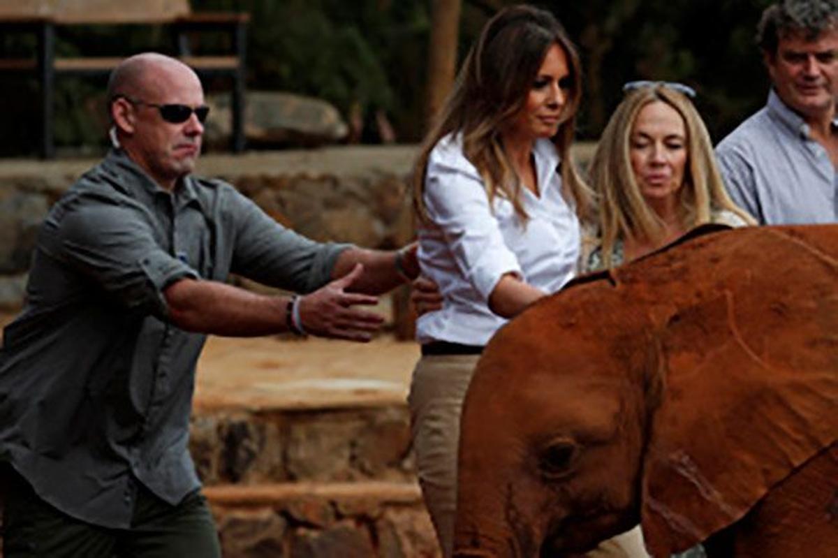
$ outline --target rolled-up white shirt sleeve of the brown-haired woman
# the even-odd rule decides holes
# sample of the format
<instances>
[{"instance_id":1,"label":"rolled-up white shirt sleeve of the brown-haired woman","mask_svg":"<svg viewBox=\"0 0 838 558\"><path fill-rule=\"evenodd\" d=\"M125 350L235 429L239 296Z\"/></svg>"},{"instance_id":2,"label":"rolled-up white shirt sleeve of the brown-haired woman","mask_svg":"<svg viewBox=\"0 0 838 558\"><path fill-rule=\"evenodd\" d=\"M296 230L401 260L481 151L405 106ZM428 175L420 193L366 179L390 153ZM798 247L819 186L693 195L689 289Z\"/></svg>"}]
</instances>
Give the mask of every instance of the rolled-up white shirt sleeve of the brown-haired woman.
<instances>
[{"instance_id":1,"label":"rolled-up white shirt sleeve of the brown-haired woman","mask_svg":"<svg viewBox=\"0 0 838 558\"><path fill-rule=\"evenodd\" d=\"M485 301L505 274L523 276L515 254L504 243L476 170L432 158L425 178L425 204L458 270ZM511 204L505 205L509 207L497 210L512 210Z\"/></svg>"}]
</instances>

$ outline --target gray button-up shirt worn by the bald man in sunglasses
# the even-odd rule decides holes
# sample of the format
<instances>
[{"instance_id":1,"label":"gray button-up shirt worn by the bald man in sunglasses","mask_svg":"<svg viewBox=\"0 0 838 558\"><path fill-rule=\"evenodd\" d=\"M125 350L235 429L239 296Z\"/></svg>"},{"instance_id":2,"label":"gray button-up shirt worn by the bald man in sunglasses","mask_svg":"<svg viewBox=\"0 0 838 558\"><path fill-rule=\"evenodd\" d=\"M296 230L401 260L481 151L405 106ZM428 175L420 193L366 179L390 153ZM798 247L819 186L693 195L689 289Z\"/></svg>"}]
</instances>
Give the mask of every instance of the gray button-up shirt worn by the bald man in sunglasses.
<instances>
[{"instance_id":1,"label":"gray button-up shirt worn by the bald man in sunglasses","mask_svg":"<svg viewBox=\"0 0 838 558\"><path fill-rule=\"evenodd\" d=\"M0 351L0 458L78 519L127 528L137 479L176 504L203 334L168 322L163 288L235 272L310 292L346 245L283 228L229 184L174 194L113 151L44 221L23 313Z\"/></svg>"}]
</instances>

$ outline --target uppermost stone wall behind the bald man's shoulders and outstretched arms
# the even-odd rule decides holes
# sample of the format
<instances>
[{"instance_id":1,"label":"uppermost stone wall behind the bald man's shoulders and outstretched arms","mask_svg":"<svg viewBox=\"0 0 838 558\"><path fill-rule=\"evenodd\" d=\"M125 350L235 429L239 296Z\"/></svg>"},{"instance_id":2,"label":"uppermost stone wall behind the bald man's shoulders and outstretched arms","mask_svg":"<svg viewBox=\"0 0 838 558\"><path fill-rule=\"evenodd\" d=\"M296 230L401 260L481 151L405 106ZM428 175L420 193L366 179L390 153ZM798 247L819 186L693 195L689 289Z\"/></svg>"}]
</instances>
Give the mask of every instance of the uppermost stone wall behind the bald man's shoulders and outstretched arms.
<instances>
[{"instance_id":1,"label":"uppermost stone wall behind the bald man's shoulders and outstretched arms","mask_svg":"<svg viewBox=\"0 0 838 558\"><path fill-rule=\"evenodd\" d=\"M205 155L197 173L224 178L283 225L315 240L391 248L410 240L405 178L415 147ZM96 160L0 163L0 310L23 300L35 237L49 206Z\"/></svg>"}]
</instances>

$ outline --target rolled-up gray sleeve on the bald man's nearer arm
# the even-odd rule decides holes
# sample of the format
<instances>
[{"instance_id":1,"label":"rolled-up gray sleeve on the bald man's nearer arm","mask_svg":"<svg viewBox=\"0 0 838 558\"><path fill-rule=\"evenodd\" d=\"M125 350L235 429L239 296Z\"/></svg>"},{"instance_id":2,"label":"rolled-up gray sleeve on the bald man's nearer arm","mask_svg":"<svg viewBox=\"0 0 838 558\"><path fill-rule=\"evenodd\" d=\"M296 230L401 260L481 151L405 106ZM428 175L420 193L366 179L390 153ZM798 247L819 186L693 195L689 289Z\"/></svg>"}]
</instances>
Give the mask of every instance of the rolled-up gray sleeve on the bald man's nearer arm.
<instances>
[{"instance_id":1,"label":"rolled-up gray sleeve on the bald man's nearer arm","mask_svg":"<svg viewBox=\"0 0 838 558\"><path fill-rule=\"evenodd\" d=\"M96 282L126 307L168 316L163 289L199 274L154 239L144 210L125 204L85 203L50 214L41 248Z\"/></svg>"}]
</instances>

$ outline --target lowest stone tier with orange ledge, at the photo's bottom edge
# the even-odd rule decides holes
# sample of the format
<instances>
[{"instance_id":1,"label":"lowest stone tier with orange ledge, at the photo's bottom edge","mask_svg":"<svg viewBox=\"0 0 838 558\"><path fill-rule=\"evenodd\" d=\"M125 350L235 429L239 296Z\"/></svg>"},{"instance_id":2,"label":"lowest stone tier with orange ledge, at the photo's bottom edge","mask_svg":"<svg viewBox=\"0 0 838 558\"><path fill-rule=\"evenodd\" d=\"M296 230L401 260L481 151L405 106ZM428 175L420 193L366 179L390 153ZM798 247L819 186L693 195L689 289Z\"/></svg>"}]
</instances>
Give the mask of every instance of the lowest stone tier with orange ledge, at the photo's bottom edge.
<instances>
[{"instance_id":1,"label":"lowest stone tier with orange ledge, at the photo's bottom edge","mask_svg":"<svg viewBox=\"0 0 838 558\"><path fill-rule=\"evenodd\" d=\"M439 558L416 485L204 489L225 558Z\"/></svg>"}]
</instances>

